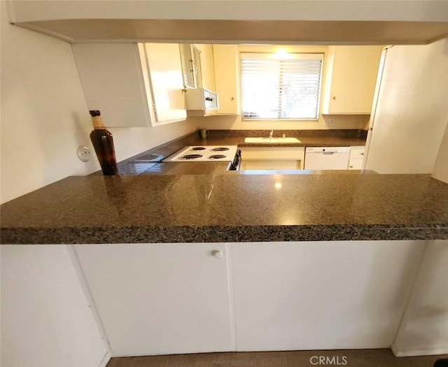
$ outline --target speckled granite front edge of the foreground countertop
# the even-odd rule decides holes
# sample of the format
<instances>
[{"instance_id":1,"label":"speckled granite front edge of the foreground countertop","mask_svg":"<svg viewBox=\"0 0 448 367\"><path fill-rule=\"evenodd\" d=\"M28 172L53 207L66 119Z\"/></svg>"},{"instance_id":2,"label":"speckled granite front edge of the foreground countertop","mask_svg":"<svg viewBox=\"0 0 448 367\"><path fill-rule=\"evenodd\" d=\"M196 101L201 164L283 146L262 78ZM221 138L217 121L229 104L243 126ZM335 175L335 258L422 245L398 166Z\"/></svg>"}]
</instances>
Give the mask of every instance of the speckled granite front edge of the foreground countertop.
<instances>
[{"instance_id":1,"label":"speckled granite front edge of the foreground countertop","mask_svg":"<svg viewBox=\"0 0 448 367\"><path fill-rule=\"evenodd\" d=\"M3 228L0 244L137 244L448 240L448 226L330 224L303 226L158 226Z\"/></svg>"}]
</instances>

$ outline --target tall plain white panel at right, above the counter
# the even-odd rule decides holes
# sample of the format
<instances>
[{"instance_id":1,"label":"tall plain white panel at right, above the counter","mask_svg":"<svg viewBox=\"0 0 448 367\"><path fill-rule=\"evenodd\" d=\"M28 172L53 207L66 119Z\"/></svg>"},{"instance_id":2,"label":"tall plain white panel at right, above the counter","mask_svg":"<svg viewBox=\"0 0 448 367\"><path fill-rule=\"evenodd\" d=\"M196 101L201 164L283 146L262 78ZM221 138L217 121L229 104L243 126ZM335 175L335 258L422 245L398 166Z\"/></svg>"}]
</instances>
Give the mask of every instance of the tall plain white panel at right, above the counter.
<instances>
[{"instance_id":1,"label":"tall plain white panel at right, above the counter","mask_svg":"<svg viewBox=\"0 0 448 367\"><path fill-rule=\"evenodd\" d=\"M448 116L448 39L388 49L366 169L433 172Z\"/></svg>"}]
</instances>

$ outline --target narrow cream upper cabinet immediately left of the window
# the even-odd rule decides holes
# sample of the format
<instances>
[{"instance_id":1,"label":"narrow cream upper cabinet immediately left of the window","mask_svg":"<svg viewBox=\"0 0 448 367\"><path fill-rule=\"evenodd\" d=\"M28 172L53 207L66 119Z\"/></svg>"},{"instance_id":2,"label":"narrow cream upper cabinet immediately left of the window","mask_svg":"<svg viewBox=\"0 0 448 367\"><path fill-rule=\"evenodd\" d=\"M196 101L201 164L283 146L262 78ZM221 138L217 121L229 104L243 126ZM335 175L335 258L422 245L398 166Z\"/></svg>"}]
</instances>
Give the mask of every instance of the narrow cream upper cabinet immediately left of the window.
<instances>
[{"instance_id":1,"label":"narrow cream upper cabinet immediately left of the window","mask_svg":"<svg viewBox=\"0 0 448 367\"><path fill-rule=\"evenodd\" d=\"M219 97L218 114L239 113L237 45L213 45L215 88Z\"/></svg>"}]
</instances>

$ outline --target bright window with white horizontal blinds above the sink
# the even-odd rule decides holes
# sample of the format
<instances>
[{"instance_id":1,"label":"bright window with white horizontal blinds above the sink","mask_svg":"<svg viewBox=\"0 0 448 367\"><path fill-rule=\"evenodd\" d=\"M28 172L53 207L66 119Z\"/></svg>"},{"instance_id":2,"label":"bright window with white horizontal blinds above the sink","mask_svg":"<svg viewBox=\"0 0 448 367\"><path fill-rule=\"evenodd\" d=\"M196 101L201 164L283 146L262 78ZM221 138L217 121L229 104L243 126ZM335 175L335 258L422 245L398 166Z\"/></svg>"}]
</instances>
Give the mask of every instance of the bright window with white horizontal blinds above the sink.
<instances>
[{"instance_id":1,"label":"bright window with white horizontal blinds above the sink","mask_svg":"<svg viewBox=\"0 0 448 367\"><path fill-rule=\"evenodd\" d=\"M243 118L317 120L323 54L241 53Z\"/></svg>"}]
</instances>

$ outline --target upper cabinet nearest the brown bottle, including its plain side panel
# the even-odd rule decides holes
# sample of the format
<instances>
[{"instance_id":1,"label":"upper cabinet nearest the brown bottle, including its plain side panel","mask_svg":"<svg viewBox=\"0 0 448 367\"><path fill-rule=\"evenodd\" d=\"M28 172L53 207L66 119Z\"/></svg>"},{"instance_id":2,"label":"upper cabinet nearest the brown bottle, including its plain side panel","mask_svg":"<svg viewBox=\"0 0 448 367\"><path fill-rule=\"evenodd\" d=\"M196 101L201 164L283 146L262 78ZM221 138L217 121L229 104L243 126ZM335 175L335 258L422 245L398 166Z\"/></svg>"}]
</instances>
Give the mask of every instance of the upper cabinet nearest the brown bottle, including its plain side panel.
<instances>
[{"instance_id":1,"label":"upper cabinet nearest the brown bottle, including its plain side panel","mask_svg":"<svg viewBox=\"0 0 448 367\"><path fill-rule=\"evenodd\" d=\"M147 127L186 120L177 44L75 43L73 55L88 109L106 127Z\"/></svg>"}]
</instances>

